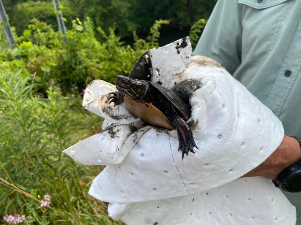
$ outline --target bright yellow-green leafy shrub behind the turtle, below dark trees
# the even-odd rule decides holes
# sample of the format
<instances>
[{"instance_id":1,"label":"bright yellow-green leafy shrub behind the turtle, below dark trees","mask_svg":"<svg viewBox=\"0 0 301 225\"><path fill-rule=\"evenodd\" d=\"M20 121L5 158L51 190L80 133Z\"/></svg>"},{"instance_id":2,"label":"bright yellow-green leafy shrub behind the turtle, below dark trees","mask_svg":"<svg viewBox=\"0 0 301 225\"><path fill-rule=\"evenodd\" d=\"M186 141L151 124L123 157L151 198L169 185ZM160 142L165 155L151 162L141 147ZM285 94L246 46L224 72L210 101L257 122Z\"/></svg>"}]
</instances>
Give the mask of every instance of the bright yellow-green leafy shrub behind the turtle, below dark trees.
<instances>
[{"instance_id":1,"label":"bright yellow-green leafy shrub behind the turtle, below dark trees","mask_svg":"<svg viewBox=\"0 0 301 225\"><path fill-rule=\"evenodd\" d=\"M47 96L46 90L53 82L58 83L63 92L69 92L72 85L81 92L94 79L113 83L116 75L128 75L145 50L158 47L159 29L168 23L156 21L147 41L135 35L134 50L120 41L114 28L107 34L98 27L99 35L104 39L99 42L89 18L84 23L79 19L72 21L66 42L60 32L34 19L23 35L16 38L16 47L7 54L7 59L13 63L14 57L21 56L26 70L35 74L35 81L40 84L37 92L44 96Z\"/></svg>"}]
</instances>

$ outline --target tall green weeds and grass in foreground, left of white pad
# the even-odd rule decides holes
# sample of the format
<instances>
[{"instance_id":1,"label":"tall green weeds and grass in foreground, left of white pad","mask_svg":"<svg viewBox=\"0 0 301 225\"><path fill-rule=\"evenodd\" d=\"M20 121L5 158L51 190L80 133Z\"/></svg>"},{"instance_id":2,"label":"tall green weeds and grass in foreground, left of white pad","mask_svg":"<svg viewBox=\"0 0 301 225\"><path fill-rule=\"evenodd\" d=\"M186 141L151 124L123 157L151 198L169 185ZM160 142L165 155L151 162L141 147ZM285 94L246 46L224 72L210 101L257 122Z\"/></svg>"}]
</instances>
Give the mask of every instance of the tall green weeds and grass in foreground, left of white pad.
<instances>
[{"instance_id":1,"label":"tall green weeds and grass in foreground, left of white pad","mask_svg":"<svg viewBox=\"0 0 301 225\"><path fill-rule=\"evenodd\" d=\"M34 77L20 76L5 68L0 76L0 216L22 214L34 224L117 224L106 205L87 194L99 168L62 157L63 149L92 134L92 126L100 129L101 120L73 108L80 99L55 88L47 99L34 96ZM40 206L45 194L49 207Z\"/></svg>"}]
</instances>

